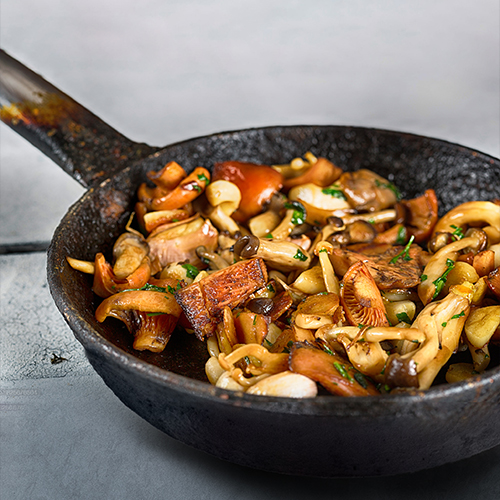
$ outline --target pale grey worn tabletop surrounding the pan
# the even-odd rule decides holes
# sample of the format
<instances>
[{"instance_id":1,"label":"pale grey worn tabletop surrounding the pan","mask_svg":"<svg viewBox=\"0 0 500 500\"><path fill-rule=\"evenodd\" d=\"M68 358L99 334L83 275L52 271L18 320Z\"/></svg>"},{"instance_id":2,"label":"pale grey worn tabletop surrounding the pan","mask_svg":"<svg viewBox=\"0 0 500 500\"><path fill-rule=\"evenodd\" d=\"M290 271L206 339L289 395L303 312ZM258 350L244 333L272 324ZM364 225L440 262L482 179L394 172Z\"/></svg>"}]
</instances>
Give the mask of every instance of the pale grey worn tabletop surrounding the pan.
<instances>
[{"instance_id":1,"label":"pale grey worn tabletop surrounding the pan","mask_svg":"<svg viewBox=\"0 0 500 500\"><path fill-rule=\"evenodd\" d=\"M2 0L2 48L133 140L343 124L500 156L496 0ZM500 447L391 478L257 472L126 408L56 310L44 249L84 190L0 125L0 488L5 499L500 495ZM306 459L306 457L305 457Z\"/></svg>"}]
</instances>

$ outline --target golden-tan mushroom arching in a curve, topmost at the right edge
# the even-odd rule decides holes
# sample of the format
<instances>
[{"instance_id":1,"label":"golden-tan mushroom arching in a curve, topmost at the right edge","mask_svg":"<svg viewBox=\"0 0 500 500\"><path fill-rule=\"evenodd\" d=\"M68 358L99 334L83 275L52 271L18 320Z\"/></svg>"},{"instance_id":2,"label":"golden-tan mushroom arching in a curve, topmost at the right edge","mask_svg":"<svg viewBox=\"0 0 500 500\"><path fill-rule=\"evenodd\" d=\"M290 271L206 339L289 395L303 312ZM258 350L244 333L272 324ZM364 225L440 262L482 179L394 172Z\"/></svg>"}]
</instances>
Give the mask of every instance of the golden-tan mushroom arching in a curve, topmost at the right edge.
<instances>
[{"instance_id":1,"label":"golden-tan mushroom arching in a curve, topmost at the right edge","mask_svg":"<svg viewBox=\"0 0 500 500\"><path fill-rule=\"evenodd\" d=\"M453 230L466 224L500 227L500 205L490 201L469 201L452 208L434 226L433 234Z\"/></svg>"}]
</instances>

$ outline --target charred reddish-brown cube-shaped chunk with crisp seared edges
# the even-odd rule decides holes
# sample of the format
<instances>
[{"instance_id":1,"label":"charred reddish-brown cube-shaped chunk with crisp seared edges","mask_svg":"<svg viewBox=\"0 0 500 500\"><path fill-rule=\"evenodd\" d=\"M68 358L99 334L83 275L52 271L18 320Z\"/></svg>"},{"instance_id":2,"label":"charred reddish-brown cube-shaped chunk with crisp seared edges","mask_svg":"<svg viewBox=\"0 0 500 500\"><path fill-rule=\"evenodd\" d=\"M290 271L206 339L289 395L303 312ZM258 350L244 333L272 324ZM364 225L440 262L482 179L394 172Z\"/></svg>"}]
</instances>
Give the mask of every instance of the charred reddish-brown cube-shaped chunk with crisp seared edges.
<instances>
[{"instance_id":1,"label":"charred reddish-brown cube-shaped chunk with crisp seared edges","mask_svg":"<svg viewBox=\"0 0 500 500\"><path fill-rule=\"evenodd\" d=\"M267 283L267 268L260 258L238 262L177 291L175 298L203 340L215 332L224 307L238 307Z\"/></svg>"}]
</instances>

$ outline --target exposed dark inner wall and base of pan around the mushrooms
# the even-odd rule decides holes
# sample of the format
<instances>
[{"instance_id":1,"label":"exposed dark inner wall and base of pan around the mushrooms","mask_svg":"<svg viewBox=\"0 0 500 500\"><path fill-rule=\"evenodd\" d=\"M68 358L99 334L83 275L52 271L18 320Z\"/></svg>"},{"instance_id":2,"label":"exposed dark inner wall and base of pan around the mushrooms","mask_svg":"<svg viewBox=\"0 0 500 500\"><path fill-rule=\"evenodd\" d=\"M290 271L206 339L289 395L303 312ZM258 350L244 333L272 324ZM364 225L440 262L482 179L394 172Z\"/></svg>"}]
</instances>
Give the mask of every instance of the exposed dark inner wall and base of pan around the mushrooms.
<instances>
[{"instance_id":1,"label":"exposed dark inner wall and base of pan around the mushrooms","mask_svg":"<svg viewBox=\"0 0 500 500\"><path fill-rule=\"evenodd\" d=\"M135 164L98 188L87 192L57 228L48 257L52 294L66 320L84 343L98 335L123 351L160 368L206 380L208 358L204 343L177 331L161 354L132 349L132 338L123 324L94 318L99 303L92 281L71 269L66 256L93 260L97 252L110 259L115 239L124 230L134 209L135 193L145 173L177 161L187 171L197 166L211 169L216 162L241 160L264 164L286 163L311 151L344 170L371 169L393 182L403 198L433 188L440 215L472 200L500 197L500 161L444 141L398 132L358 127L271 127L216 134L164 148ZM498 356L496 356L498 358Z\"/></svg>"}]
</instances>

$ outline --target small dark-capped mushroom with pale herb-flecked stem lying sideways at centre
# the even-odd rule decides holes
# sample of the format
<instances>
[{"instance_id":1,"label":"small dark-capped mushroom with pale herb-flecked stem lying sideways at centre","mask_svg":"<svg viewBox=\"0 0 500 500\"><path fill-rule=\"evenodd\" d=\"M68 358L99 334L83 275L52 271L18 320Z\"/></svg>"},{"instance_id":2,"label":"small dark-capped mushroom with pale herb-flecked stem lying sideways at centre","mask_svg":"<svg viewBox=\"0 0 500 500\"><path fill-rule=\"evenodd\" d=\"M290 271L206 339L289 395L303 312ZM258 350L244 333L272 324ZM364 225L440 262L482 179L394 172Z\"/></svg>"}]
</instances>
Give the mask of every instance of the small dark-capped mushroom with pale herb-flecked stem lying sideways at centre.
<instances>
[{"instance_id":1,"label":"small dark-capped mushroom with pale herb-flecked stem lying sideways at centre","mask_svg":"<svg viewBox=\"0 0 500 500\"><path fill-rule=\"evenodd\" d=\"M243 236L234 244L237 256L248 259L260 257L272 268L278 271L292 271L307 269L311 263L311 256L295 243L289 241L273 241L256 236Z\"/></svg>"}]
</instances>

